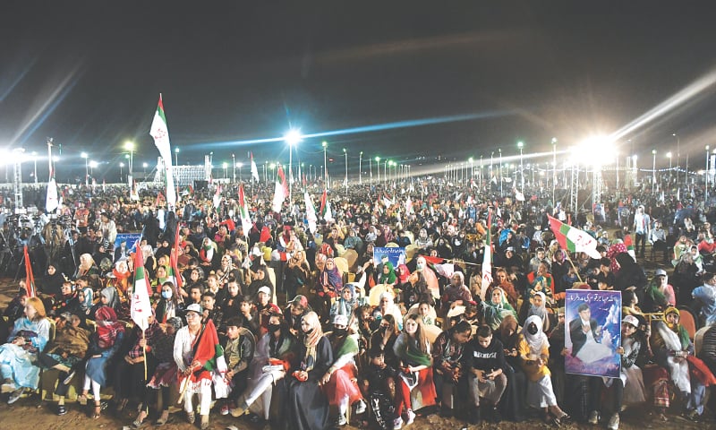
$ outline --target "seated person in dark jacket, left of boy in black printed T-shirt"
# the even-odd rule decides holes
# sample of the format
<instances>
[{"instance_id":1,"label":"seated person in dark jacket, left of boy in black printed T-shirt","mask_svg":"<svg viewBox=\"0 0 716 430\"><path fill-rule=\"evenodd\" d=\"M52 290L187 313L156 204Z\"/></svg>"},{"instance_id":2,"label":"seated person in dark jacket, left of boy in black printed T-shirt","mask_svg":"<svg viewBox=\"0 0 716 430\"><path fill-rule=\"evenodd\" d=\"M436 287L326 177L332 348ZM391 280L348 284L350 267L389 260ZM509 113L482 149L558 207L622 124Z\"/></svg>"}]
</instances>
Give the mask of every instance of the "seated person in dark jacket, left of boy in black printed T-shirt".
<instances>
[{"instance_id":1,"label":"seated person in dark jacket, left of boy in black printed T-shirt","mask_svg":"<svg viewBox=\"0 0 716 430\"><path fill-rule=\"evenodd\" d=\"M464 364L467 357L467 342L473 333L470 323L461 321L443 331L433 343L433 383L442 408L443 417L452 417L456 399L465 398L467 393Z\"/></svg>"}]
</instances>

